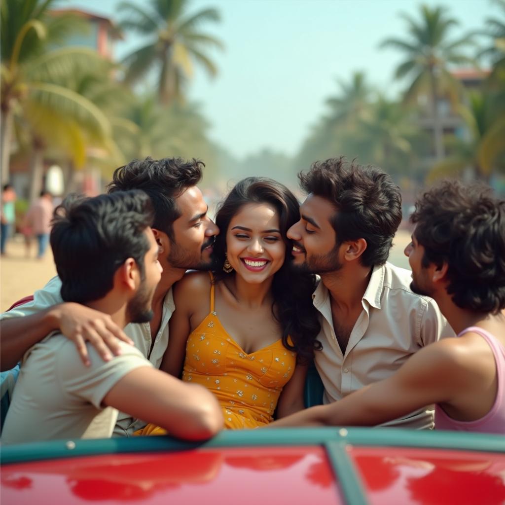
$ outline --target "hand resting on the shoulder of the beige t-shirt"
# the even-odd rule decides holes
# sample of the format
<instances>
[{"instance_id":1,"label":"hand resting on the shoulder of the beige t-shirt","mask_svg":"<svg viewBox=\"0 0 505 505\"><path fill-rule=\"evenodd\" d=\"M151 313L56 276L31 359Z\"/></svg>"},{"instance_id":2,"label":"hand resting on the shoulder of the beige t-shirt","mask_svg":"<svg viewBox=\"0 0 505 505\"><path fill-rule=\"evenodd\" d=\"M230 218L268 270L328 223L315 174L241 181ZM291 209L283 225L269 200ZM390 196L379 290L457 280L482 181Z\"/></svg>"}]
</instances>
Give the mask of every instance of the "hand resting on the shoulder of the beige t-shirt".
<instances>
[{"instance_id":1,"label":"hand resting on the shoulder of the beige t-shirt","mask_svg":"<svg viewBox=\"0 0 505 505\"><path fill-rule=\"evenodd\" d=\"M51 313L62 334L74 342L86 366L90 361L85 342L89 342L104 361L121 354L120 340L134 345L109 314L73 302L56 305Z\"/></svg>"}]
</instances>

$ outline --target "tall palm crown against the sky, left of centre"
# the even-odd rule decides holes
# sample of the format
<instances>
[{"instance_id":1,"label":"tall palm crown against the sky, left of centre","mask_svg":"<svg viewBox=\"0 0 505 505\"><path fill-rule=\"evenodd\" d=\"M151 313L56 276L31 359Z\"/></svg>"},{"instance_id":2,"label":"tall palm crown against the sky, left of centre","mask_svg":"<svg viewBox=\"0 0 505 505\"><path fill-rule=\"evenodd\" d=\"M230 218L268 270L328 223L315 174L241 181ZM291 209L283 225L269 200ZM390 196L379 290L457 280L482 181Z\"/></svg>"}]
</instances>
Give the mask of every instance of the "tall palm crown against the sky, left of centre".
<instances>
[{"instance_id":1,"label":"tall palm crown against the sky, left of centre","mask_svg":"<svg viewBox=\"0 0 505 505\"><path fill-rule=\"evenodd\" d=\"M216 9L187 15L188 0L150 0L149 4L146 9L132 2L122 2L119 6L128 15L121 23L122 28L150 37L146 45L125 58L126 80L136 81L156 68L160 102L167 105L174 98L181 98L184 82L193 75L193 61L211 76L217 74L206 49L222 48L222 43L198 28L200 23L220 18Z\"/></svg>"}]
</instances>

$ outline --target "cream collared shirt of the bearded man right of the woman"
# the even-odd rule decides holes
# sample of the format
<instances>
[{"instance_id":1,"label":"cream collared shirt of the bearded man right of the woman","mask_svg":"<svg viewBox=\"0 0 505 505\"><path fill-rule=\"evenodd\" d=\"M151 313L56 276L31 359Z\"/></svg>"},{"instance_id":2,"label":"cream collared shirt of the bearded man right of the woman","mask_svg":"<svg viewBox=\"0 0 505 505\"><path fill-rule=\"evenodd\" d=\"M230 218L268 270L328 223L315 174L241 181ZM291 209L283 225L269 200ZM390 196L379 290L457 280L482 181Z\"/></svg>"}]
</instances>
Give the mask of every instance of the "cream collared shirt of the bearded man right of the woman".
<instances>
[{"instance_id":1,"label":"cream collared shirt of the bearded man right of the woman","mask_svg":"<svg viewBox=\"0 0 505 505\"><path fill-rule=\"evenodd\" d=\"M323 381L324 403L339 400L367 384L391 376L425 345L454 332L435 301L413 293L410 270L390 263L373 268L363 295L363 310L352 328L345 354L333 328L330 293L323 282L314 291L314 307L320 312L316 368ZM432 428L433 411L420 409L385 426Z\"/></svg>"}]
</instances>

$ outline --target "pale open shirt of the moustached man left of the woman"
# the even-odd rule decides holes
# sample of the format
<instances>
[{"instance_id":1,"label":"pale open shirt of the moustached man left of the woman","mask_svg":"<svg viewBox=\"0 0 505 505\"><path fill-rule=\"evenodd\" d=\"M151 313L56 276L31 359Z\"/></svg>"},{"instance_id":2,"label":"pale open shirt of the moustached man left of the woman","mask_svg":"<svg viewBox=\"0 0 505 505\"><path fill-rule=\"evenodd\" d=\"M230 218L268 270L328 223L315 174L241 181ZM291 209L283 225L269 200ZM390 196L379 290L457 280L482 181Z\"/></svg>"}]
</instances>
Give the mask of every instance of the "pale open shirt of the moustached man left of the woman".
<instances>
[{"instance_id":1,"label":"pale open shirt of the moustached man left of the woman","mask_svg":"<svg viewBox=\"0 0 505 505\"><path fill-rule=\"evenodd\" d=\"M0 315L0 319L31 316L41 310L63 303L61 297L61 280L58 276L53 277L42 289L35 291L33 300ZM170 288L163 300L163 312L160 329L155 337L151 350L151 329L149 323L130 323L124 332L133 340L135 347L149 360L154 367L160 368L163 355L168 345L168 322L175 310L172 288ZM150 352L149 352L150 351ZM76 351L77 352L77 351ZM145 426L145 422L133 419L129 414L120 412L114 435L131 435L135 430Z\"/></svg>"}]
</instances>

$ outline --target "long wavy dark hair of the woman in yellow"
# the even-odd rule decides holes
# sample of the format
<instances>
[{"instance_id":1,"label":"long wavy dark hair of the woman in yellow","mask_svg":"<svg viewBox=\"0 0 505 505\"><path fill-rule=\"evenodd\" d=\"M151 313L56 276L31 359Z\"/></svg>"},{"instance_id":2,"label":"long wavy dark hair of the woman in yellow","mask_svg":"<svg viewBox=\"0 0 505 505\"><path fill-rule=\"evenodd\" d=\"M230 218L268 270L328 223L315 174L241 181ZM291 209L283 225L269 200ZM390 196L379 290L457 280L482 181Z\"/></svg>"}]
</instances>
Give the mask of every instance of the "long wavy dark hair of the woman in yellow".
<instances>
[{"instance_id":1,"label":"long wavy dark hair of the woman in yellow","mask_svg":"<svg viewBox=\"0 0 505 505\"><path fill-rule=\"evenodd\" d=\"M292 241L286 233L299 219L299 203L294 194L280 182L267 177L247 177L239 181L218 208L216 224L221 230L214 244L214 282L234 275L223 271L226 259L226 232L231 219L246 204L270 204L279 215L282 239L286 244L286 255L282 267L275 273L272 282L272 314L282 328L284 347L297 352L301 363L310 362L314 350L322 345L316 340L321 328L317 311L312 304L312 293L316 288L314 274L293 271L291 266ZM288 337L294 345L288 343Z\"/></svg>"}]
</instances>

